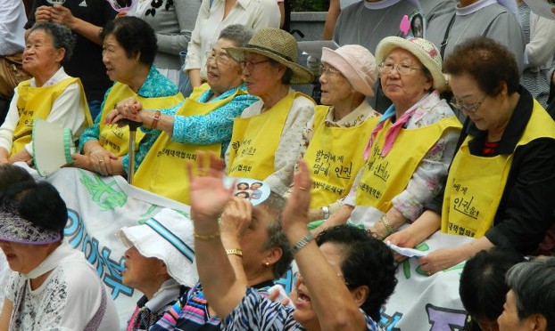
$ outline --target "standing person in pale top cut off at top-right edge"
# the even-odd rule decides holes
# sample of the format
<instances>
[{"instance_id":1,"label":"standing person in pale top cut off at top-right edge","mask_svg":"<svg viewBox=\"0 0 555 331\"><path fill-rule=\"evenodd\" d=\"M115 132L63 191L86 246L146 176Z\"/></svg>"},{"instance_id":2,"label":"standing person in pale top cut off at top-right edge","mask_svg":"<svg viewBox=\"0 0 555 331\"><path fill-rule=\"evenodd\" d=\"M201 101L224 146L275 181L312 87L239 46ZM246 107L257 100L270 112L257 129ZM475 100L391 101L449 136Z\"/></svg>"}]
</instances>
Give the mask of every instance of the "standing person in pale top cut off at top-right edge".
<instances>
[{"instance_id":1,"label":"standing person in pale top cut off at top-right edge","mask_svg":"<svg viewBox=\"0 0 555 331\"><path fill-rule=\"evenodd\" d=\"M549 20L530 11L530 7L518 0L520 25L526 42L524 72L521 83L535 100L546 108L550 93L548 77L555 55L555 20Z\"/></svg>"}]
</instances>

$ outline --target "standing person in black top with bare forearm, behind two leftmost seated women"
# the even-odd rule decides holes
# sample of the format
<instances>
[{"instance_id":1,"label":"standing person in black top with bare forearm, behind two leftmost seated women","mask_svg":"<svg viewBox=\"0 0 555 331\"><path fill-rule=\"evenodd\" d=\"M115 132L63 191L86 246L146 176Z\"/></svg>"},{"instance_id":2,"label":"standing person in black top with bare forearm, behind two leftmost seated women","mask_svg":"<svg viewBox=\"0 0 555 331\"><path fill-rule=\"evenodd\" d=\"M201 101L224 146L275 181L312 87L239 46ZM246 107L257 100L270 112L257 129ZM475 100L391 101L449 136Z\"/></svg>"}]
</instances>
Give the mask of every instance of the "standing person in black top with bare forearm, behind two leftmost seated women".
<instances>
[{"instance_id":1,"label":"standing person in black top with bare forearm, behind two leftmost seated women","mask_svg":"<svg viewBox=\"0 0 555 331\"><path fill-rule=\"evenodd\" d=\"M64 69L68 75L79 77L83 82L93 118L100 112L104 93L112 85L102 62L100 32L115 15L116 11L105 0L66 0L63 5L35 0L25 25L25 28L31 28L36 22L50 20L74 32L74 56L64 65Z\"/></svg>"}]
</instances>

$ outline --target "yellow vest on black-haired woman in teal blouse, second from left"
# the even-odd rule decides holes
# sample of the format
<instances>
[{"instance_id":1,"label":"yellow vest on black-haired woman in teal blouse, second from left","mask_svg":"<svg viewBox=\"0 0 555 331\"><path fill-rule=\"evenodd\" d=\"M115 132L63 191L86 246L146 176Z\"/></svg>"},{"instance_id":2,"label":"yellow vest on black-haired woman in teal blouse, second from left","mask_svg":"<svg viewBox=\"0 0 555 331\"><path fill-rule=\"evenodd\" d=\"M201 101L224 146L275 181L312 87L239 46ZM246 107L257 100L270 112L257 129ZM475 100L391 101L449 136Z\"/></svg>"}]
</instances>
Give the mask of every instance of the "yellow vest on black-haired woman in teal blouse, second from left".
<instances>
[{"instance_id":1,"label":"yellow vest on black-haired woman in teal blouse, second from left","mask_svg":"<svg viewBox=\"0 0 555 331\"><path fill-rule=\"evenodd\" d=\"M100 118L100 137L101 146L112 152L118 157L123 157L128 153L129 149L129 128L127 125L105 125L104 120L108 113L115 109L118 102L133 97L141 102L144 109L167 109L177 105L183 101L183 95L177 93L167 97L144 98L133 92L128 85L116 83L112 86L112 90L106 101L104 101L104 109L102 109L102 117ZM145 137L145 133L137 130L135 138L135 149L138 148L139 142Z\"/></svg>"}]
</instances>

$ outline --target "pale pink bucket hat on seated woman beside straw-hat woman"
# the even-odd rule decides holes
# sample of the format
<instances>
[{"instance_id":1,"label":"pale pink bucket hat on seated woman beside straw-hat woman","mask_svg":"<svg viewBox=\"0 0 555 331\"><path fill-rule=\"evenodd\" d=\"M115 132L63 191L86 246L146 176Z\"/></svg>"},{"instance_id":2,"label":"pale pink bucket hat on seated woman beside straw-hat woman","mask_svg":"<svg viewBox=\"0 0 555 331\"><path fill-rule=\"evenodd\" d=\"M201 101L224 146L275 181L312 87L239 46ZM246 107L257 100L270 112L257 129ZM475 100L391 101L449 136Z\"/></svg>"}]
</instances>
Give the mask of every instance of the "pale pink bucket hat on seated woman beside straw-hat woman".
<instances>
[{"instance_id":1,"label":"pale pink bucket hat on seated woman beside straw-hat woman","mask_svg":"<svg viewBox=\"0 0 555 331\"><path fill-rule=\"evenodd\" d=\"M345 44L335 51L323 47L322 62L339 70L358 92L374 96L372 86L376 83L377 65L374 55L359 44Z\"/></svg>"}]
</instances>

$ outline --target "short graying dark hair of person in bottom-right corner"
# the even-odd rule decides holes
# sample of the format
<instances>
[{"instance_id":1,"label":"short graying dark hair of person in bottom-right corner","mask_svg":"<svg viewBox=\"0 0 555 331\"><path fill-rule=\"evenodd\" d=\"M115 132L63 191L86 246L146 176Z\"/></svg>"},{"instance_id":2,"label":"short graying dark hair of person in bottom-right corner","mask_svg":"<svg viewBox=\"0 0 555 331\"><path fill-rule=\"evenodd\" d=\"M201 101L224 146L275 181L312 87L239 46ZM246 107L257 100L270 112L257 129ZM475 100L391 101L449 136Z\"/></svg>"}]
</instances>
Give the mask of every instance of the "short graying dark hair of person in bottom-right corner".
<instances>
[{"instance_id":1,"label":"short graying dark hair of person in bottom-right corner","mask_svg":"<svg viewBox=\"0 0 555 331\"><path fill-rule=\"evenodd\" d=\"M521 262L507 272L507 285L515 294L518 319L540 314L547 330L555 327L555 257Z\"/></svg>"}]
</instances>

